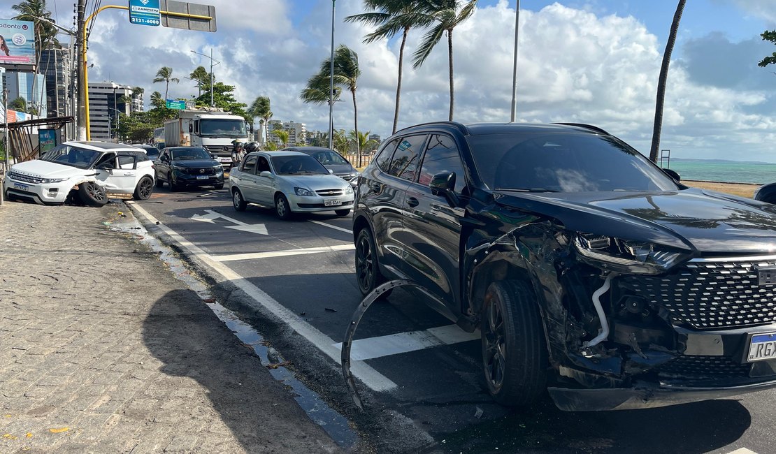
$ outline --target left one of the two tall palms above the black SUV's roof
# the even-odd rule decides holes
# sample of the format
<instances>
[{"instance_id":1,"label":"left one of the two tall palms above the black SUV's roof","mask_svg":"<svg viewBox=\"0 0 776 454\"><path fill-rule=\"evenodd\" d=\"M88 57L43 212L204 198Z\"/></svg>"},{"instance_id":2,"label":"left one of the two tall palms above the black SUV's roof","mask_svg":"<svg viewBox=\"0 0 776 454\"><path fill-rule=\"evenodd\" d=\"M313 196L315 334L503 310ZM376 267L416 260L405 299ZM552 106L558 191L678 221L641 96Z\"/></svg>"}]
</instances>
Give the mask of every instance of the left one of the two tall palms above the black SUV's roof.
<instances>
[{"instance_id":1,"label":"left one of the two tall palms above the black SUV's roof","mask_svg":"<svg viewBox=\"0 0 776 454\"><path fill-rule=\"evenodd\" d=\"M399 101L401 96L401 75L404 67L404 46L407 34L417 26L428 26L431 19L428 15L417 12L418 0L364 0L365 8L376 9L374 12L348 15L345 22L362 22L377 26L377 29L364 37L364 43L376 40L390 39L401 31L401 46L399 47L399 77L396 84L396 107L393 109L393 132L396 132L399 122ZM392 132L392 133L393 133Z\"/></svg>"}]
</instances>

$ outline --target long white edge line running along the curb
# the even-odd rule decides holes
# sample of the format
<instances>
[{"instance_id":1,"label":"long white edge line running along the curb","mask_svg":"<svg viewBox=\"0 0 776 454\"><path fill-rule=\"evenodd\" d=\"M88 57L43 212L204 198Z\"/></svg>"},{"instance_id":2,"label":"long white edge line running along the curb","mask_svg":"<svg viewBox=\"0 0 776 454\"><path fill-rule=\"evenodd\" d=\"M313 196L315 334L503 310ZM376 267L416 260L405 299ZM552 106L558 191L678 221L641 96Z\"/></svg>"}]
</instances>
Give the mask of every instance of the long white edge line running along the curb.
<instances>
[{"instance_id":1,"label":"long white edge line running along the curb","mask_svg":"<svg viewBox=\"0 0 776 454\"><path fill-rule=\"evenodd\" d=\"M199 258L199 260L202 260L204 263L213 268L213 270L219 273L223 279L230 280L232 284L239 287L242 291L248 294L248 296L253 298L258 304L261 304L268 311L272 312L272 314L274 314L282 322L286 323L286 325L289 325L289 327L291 327L295 332L302 335L308 341L312 342L313 345L317 347L317 349L320 349L321 352L331 357L331 359L334 359L335 363L341 364L341 352L339 349L334 347L334 340L329 336L318 331L317 328L314 328L313 325L310 325L309 323L299 318L298 315L294 314L292 311L289 311L287 308L282 306L282 304L275 301L272 297L262 291L262 289L256 287L254 284L251 284L240 274L234 272L234 270L232 270L230 267L227 267L223 263L219 263L216 260L213 260L210 254L203 251L203 249L200 249L199 246L189 242L189 240L183 238L178 234L178 232L175 232L175 230L170 229L167 225L159 222L157 218L154 218L151 213L145 211L144 208L140 205L137 205L132 201L126 201L126 203L138 214L146 218L148 222L158 225L159 229L174 239L175 242L178 242L178 245L187 249L189 253L196 256ZM352 363L351 373L354 377L361 380L362 383L364 383L367 387L375 391L389 391L396 389L397 387L396 383L393 383L393 381L389 380L382 373L377 372L376 370L372 369L371 366L360 361Z\"/></svg>"}]
</instances>

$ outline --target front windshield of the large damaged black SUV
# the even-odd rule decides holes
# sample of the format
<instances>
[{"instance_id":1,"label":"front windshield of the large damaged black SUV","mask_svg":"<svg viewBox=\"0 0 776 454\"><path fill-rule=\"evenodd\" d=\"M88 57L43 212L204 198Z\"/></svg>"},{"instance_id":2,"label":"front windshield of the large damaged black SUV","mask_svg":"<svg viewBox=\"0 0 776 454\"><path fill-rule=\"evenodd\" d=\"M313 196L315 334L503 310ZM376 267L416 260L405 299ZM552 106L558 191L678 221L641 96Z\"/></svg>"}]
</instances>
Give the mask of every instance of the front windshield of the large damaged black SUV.
<instances>
[{"instance_id":1,"label":"front windshield of the large damaged black SUV","mask_svg":"<svg viewBox=\"0 0 776 454\"><path fill-rule=\"evenodd\" d=\"M483 180L494 190L676 191L666 174L618 139L586 133L469 136Z\"/></svg>"}]
</instances>

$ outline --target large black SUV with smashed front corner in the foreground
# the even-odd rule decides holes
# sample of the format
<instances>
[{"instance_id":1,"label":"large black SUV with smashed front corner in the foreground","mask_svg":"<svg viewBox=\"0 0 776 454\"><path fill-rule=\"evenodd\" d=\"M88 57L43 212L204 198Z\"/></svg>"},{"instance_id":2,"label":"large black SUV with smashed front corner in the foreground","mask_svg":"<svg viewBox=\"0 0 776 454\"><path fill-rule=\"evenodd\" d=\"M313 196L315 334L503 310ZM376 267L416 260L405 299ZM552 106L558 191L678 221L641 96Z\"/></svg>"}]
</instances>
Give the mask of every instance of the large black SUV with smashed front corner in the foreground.
<instances>
[{"instance_id":1,"label":"large black SUV with smashed front corner in the foreground","mask_svg":"<svg viewBox=\"0 0 776 454\"><path fill-rule=\"evenodd\" d=\"M359 178L363 294L407 279L482 333L502 404L656 407L776 387L776 208L594 126L438 122ZM381 289L382 290L382 289Z\"/></svg>"}]
</instances>

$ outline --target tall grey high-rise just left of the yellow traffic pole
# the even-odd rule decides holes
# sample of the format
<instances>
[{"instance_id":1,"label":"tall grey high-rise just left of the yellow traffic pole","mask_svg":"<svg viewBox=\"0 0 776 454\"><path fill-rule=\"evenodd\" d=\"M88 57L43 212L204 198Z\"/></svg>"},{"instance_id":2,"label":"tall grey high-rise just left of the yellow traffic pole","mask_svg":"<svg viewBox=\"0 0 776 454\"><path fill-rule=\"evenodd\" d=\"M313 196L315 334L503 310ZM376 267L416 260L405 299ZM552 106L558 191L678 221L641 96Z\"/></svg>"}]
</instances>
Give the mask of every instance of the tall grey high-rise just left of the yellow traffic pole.
<instances>
[{"instance_id":1,"label":"tall grey high-rise just left of the yellow traffic pole","mask_svg":"<svg viewBox=\"0 0 776 454\"><path fill-rule=\"evenodd\" d=\"M52 45L40 53L40 74L46 77L47 110L50 117L73 115L68 101L71 90L71 61L67 48Z\"/></svg>"}]
</instances>

